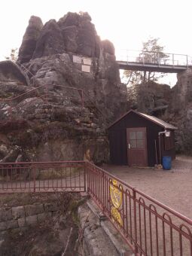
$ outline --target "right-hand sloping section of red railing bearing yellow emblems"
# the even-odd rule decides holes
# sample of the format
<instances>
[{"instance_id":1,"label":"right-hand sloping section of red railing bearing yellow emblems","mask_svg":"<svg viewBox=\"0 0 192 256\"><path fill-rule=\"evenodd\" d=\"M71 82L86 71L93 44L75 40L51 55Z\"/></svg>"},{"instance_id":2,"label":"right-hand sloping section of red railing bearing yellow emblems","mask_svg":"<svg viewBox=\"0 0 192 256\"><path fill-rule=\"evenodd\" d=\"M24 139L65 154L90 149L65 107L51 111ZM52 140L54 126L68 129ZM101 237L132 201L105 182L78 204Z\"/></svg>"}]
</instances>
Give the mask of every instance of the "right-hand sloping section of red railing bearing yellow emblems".
<instances>
[{"instance_id":1,"label":"right-hand sloping section of red railing bearing yellow emblems","mask_svg":"<svg viewBox=\"0 0 192 256\"><path fill-rule=\"evenodd\" d=\"M87 163L87 191L136 255L192 255L192 221Z\"/></svg>"}]
</instances>

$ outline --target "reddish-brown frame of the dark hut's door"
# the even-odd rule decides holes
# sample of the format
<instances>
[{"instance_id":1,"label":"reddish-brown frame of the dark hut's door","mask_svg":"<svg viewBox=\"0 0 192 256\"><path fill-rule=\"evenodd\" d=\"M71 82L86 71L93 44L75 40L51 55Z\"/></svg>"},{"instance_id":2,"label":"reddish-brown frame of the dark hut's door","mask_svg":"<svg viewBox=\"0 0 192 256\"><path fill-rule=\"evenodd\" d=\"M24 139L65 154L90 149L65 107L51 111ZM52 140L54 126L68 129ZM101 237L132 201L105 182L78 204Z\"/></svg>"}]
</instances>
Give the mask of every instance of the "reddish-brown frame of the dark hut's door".
<instances>
[{"instance_id":1,"label":"reddish-brown frame of the dark hut's door","mask_svg":"<svg viewBox=\"0 0 192 256\"><path fill-rule=\"evenodd\" d=\"M132 166L129 161L129 154L130 154L130 151L129 151L129 148L128 148L128 141L129 141L129 137L128 137L128 132L130 131L136 131L136 130L142 130L144 132L144 136L145 136L145 147L144 147L144 160L145 160L145 163L143 166L148 166L148 147L147 147L147 131L146 131L146 127L130 127L130 128L126 128L126 157L127 157L127 164L128 166Z\"/></svg>"}]
</instances>

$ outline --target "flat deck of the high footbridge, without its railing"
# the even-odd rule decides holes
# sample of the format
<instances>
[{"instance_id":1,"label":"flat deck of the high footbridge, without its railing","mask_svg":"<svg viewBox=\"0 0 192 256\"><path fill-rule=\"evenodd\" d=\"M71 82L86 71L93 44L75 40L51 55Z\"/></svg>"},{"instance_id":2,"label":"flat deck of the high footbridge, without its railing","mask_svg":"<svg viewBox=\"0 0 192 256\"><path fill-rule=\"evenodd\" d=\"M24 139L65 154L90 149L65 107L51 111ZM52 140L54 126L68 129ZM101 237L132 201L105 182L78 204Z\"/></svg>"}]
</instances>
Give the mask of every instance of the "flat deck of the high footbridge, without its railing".
<instances>
[{"instance_id":1,"label":"flat deck of the high footbridge, without its railing","mask_svg":"<svg viewBox=\"0 0 192 256\"><path fill-rule=\"evenodd\" d=\"M127 62L117 60L119 69L134 70L134 71L148 71L148 72L163 72L163 73L179 73L187 70L192 66L172 66L156 63L141 63L141 62Z\"/></svg>"}]
</instances>

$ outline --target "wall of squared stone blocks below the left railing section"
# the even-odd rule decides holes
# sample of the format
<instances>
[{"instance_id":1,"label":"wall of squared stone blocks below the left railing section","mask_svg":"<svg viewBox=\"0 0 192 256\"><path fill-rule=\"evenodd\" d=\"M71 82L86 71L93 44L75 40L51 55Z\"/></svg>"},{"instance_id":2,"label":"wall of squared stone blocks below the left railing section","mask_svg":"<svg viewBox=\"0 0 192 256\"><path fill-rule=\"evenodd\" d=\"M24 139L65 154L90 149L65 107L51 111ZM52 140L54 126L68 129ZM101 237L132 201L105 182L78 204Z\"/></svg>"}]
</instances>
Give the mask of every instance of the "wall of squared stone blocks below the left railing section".
<instances>
[{"instance_id":1,"label":"wall of squared stone blocks below the left railing section","mask_svg":"<svg viewBox=\"0 0 192 256\"><path fill-rule=\"evenodd\" d=\"M55 203L0 208L0 232L35 225L51 217L58 209Z\"/></svg>"}]
</instances>

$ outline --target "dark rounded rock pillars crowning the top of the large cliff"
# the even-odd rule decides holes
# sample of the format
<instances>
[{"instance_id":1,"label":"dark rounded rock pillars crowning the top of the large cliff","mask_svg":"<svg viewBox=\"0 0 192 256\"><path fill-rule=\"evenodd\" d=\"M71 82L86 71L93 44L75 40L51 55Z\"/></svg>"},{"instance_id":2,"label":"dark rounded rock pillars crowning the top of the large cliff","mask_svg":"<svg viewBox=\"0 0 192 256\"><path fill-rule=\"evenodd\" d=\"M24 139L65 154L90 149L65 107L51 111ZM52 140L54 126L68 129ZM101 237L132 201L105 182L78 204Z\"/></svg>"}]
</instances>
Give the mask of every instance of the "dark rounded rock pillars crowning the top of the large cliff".
<instances>
[{"instance_id":1,"label":"dark rounded rock pillars crowning the top of the large cliff","mask_svg":"<svg viewBox=\"0 0 192 256\"><path fill-rule=\"evenodd\" d=\"M58 22L50 20L43 26L39 17L32 16L23 36L18 62L29 62L30 59L64 53L65 50L83 56L99 57L101 41L90 21L91 17L87 13L68 13ZM105 43L106 47L108 44ZM111 50L110 45L109 49ZM106 52L114 54L110 50Z\"/></svg>"}]
</instances>

